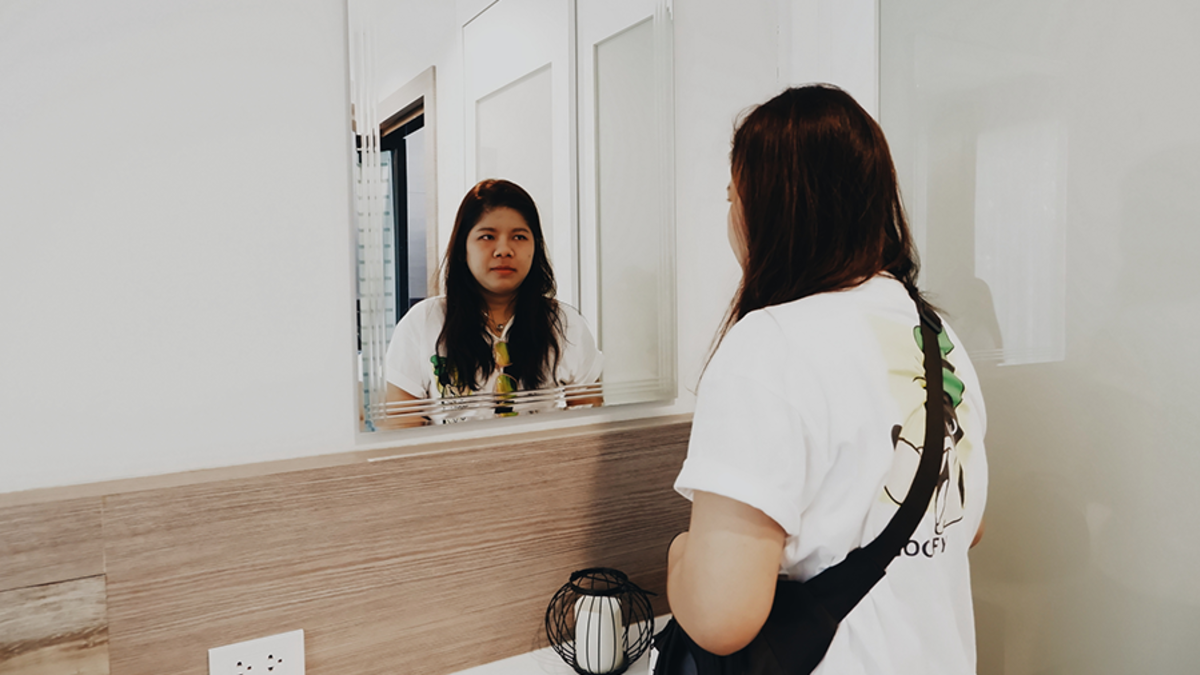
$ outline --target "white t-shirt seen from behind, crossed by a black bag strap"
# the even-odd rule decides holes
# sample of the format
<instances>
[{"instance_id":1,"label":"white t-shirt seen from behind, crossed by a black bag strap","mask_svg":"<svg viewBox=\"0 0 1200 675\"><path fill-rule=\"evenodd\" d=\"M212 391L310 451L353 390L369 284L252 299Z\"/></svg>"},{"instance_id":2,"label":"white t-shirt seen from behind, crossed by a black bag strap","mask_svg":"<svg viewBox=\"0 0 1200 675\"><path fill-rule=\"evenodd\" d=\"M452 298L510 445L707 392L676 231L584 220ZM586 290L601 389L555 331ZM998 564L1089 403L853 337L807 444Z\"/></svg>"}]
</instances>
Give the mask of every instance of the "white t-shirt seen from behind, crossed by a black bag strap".
<instances>
[{"instance_id":1,"label":"white t-shirt seen from behind, crossed by a black bag strap","mask_svg":"<svg viewBox=\"0 0 1200 675\"><path fill-rule=\"evenodd\" d=\"M876 276L746 315L701 382L676 490L750 504L787 532L780 573L806 580L869 544L907 494L924 444L924 357L904 285ZM952 436L930 509L841 622L817 674L976 671L967 549L988 490L979 382L947 325Z\"/></svg>"}]
</instances>

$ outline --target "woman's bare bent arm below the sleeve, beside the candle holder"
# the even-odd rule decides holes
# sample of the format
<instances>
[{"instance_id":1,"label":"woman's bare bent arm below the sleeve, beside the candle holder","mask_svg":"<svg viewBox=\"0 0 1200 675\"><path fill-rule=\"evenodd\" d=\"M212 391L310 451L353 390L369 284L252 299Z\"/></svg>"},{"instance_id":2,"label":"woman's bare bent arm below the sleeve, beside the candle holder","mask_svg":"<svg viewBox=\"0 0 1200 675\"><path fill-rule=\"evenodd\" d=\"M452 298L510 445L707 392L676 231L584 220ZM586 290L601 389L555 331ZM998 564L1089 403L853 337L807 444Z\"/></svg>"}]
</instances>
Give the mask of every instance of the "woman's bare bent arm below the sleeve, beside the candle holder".
<instances>
[{"instance_id":1,"label":"woman's bare bent arm below the sleeve, beside the candle holder","mask_svg":"<svg viewBox=\"0 0 1200 675\"><path fill-rule=\"evenodd\" d=\"M786 538L761 510L695 492L690 528L667 554L667 599L697 645L728 655L758 634L775 598Z\"/></svg>"}]
</instances>

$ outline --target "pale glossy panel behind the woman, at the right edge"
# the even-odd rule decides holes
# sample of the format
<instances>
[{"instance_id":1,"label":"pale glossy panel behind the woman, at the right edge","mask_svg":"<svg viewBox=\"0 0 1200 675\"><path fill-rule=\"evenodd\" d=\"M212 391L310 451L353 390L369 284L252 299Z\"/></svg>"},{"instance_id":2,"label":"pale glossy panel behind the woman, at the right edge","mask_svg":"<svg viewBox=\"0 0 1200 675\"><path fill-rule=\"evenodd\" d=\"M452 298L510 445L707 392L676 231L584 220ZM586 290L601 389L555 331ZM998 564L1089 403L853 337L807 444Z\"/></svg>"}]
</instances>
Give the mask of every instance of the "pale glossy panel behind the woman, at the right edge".
<instances>
[{"instance_id":1,"label":"pale glossy panel behind the woman, at the right edge","mask_svg":"<svg viewBox=\"0 0 1200 675\"><path fill-rule=\"evenodd\" d=\"M880 10L924 283L989 404L978 671L1190 671L1200 7Z\"/></svg>"}]
</instances>

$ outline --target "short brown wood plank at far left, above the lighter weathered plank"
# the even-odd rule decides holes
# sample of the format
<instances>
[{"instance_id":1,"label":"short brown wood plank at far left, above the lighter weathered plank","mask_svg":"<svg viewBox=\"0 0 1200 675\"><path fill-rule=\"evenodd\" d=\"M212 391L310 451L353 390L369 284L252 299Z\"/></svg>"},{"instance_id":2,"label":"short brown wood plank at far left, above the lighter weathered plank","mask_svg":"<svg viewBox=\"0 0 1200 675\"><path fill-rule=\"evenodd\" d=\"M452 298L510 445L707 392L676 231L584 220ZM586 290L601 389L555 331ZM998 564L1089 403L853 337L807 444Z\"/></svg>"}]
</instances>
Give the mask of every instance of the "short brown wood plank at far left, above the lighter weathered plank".
<instances>
[{"instance_id":1,"label":"short brown wood plank at far left, above the lighter weathered plank","mask_svg":"<svg viewBox=\"0 0 1200 675\"><path fill-rule=\"evenodd\" d=\"M0 507L0 591L104 573L101 498Z\"/></svg>"}]
</instances>

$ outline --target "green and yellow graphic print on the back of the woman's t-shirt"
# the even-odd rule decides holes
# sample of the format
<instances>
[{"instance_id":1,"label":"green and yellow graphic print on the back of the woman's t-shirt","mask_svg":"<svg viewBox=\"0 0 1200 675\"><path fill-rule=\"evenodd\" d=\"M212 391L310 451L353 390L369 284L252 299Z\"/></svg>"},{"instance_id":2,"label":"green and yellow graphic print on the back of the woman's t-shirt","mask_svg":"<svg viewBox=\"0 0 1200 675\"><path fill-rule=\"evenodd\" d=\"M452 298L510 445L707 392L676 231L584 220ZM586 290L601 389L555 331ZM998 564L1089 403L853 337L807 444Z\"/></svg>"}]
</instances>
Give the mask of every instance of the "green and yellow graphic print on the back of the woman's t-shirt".
<instances>
[{"instance_id":1,"label":"green and yellow graphic print on the back of the woman's t-shirt","mask_svg":"<svg viewBox=\"0 0 1200 675\"><path fill-rule=\"evenodd\" d=\"M920 327L913 328L913 338L919 353L924 353L924 339ZM934 533L943 534L946 528L962 520L966 504L966 480L962 474L961 458L959 456L959 441L962 440L962 429L959 428L958 407L962 405L964 384L954 374L954 364L947 360L947 356L954 351L954 345L946 331L937 336L937 347L942 354L942 402L946 414L946 434L943 436L942 467L937 477L937 488L934 491L931 508L935 513ZM925 438L925 407L924 407L924 364L920 375L912 377L912 382L920 383L922 402L913 410L904 425L892 428L892 444L895 456L892 461L892 471L884 483L883 491L888 500L895 504L904 502L912 485L912 478L917 473L920 464L920 455L924 452L917 442Z\"/></svg>"}]
</instances>

